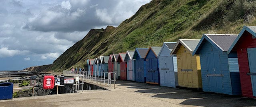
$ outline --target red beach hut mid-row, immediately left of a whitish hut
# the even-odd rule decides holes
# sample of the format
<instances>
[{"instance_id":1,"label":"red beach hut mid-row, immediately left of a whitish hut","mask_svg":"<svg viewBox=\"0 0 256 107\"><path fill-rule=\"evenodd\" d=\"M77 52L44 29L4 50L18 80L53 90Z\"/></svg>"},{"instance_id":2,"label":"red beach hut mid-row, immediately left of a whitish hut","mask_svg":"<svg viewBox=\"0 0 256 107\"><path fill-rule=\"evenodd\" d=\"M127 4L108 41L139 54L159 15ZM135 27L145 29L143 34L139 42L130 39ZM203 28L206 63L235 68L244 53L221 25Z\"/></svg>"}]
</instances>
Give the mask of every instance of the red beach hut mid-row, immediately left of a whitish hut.
<instances>
[{"instance_id":1,"label":"red beach hut mid-row, immediately left of a whitish hut","mask_svg":"<svg viewBox=\"0 0 256 107\"><path fill-rule=\"evenodd\" d=\"M118 60L117 60L117 62L120 63L120 80L127 80L127 76L126 76L127 64L124 61L125 55L126 53L119 53Z\"/></svg>"}]
</instances>

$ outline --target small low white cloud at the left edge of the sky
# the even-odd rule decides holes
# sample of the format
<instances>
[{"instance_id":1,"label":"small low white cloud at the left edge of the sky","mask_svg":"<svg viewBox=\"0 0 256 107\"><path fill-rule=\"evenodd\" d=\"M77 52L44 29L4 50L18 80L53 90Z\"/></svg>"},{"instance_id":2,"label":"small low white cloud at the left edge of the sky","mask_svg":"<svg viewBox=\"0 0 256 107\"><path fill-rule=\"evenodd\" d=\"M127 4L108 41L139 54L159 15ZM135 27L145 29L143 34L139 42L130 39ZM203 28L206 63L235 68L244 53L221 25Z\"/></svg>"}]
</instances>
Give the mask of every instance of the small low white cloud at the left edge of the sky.
<instances>
[{"instance_id":1,"label":"small low white cloud at the left edge of the sky","mask_svg":"<svg viewBox=\"0 0 256 107\"><path fill-rule=\"evenodd\" d=\"M0 49L0 58L11 57L18 54L26 54L28 51L9 50L7 47Z\"/></svg>"}]
</instances>

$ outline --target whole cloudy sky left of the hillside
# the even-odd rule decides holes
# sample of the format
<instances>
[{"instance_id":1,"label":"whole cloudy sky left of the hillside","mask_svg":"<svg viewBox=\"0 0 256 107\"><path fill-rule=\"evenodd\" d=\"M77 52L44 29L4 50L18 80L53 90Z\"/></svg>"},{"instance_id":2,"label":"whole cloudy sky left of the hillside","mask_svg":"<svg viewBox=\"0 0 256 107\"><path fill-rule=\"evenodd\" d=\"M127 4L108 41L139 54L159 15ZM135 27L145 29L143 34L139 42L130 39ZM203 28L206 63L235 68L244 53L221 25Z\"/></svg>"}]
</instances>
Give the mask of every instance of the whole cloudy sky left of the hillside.
<instances>
[{"instance_id":1,"label":"whole cloudy sky left of the hillside","mask_svg":"<svg viewBox=\"0 0 256 107\"><path fill-rule=\"evenodd\" d=\"M52 64L90 29L118 26L150 0L0 0L0 70Z\"/></svg>"}]
</instances>

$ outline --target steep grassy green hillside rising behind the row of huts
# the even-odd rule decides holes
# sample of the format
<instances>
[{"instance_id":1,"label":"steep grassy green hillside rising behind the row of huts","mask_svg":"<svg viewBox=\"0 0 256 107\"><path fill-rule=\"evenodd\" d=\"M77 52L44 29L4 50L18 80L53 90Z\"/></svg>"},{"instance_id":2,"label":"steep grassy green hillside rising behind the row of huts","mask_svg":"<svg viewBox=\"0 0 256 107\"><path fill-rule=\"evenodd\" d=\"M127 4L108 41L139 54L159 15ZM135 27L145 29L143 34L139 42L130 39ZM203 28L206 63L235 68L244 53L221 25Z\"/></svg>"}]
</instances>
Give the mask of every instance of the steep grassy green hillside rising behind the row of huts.
<instances>
[{"instance_id":1,"label":"steep grassy green hillside rising behind the row of huts","mask_svg":"<svg viewBox=\"0 0 256 107\"><path fill-rule=\"evenodd\" d=\"M179 38L200 39L203 33L238 34L256 25L256 2L247 0L152 0L118 27L92 29L43 71L85 66L86 59L161 46Z\"/></svg>"}]
</instances>

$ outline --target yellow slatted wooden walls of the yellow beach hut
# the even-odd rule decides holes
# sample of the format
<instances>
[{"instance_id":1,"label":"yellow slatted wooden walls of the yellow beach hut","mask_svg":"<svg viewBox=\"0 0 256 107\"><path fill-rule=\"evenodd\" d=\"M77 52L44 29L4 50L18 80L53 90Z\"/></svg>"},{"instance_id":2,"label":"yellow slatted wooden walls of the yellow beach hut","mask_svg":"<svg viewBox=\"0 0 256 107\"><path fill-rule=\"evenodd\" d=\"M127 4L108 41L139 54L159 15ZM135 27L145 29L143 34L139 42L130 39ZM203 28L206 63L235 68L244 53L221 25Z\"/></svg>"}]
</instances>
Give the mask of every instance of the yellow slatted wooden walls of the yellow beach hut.
<instances>
[{"instance_id":1,"label":"yellow slatted wooden walls of the yellow beach hut","mask_svg":"<svg viewBox=\"0 0 256 107\"><path fill-rule=\"evenodd\" d=\"M200 56L192 56L189 50L184 46L181 46L177 52L177 67L179 86L187 88L202 88Z\"/></svg>"}]
</instances>

